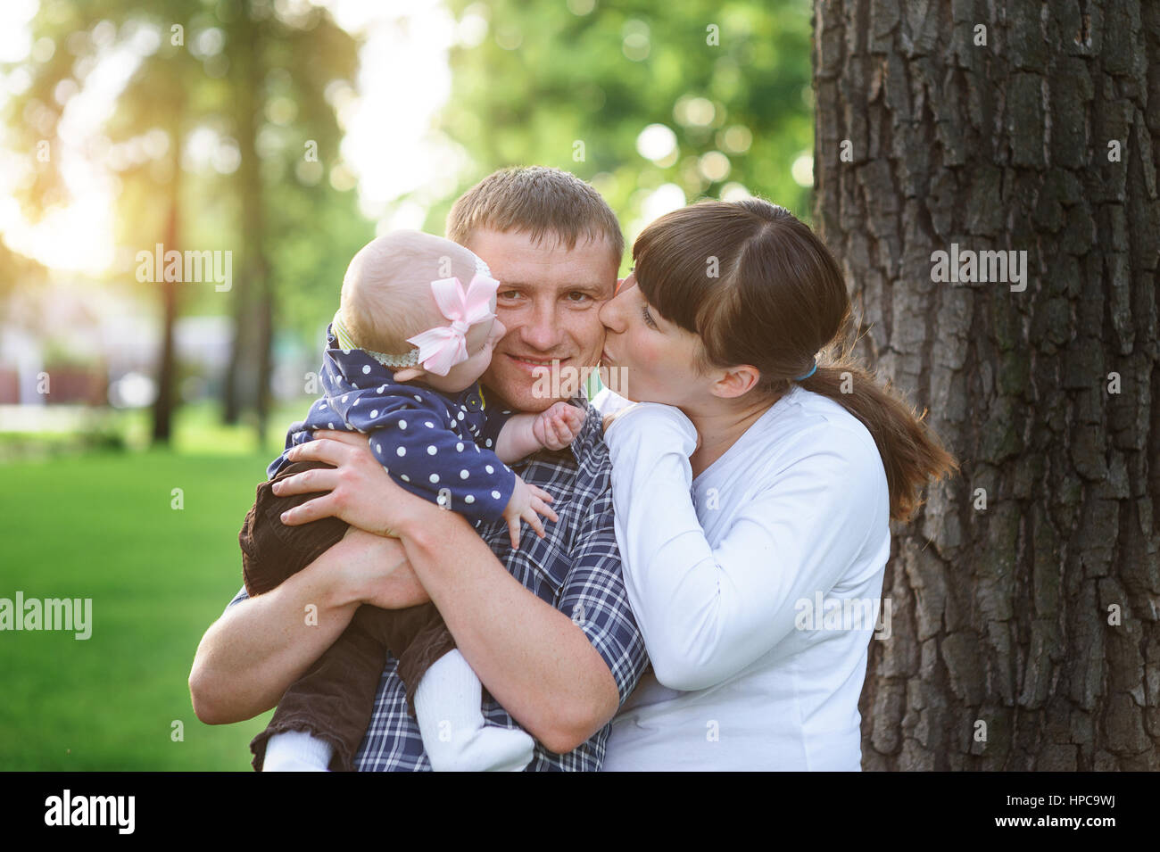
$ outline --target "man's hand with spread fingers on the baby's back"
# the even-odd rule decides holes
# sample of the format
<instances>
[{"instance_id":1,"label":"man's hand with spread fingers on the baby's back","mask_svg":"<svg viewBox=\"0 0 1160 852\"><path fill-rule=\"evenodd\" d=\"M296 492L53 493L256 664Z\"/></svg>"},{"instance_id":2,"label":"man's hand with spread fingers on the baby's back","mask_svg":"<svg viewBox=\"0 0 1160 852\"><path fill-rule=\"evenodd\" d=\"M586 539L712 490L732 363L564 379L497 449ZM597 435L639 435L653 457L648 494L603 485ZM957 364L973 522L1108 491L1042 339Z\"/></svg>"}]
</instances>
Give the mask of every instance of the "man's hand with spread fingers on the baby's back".
<instances>
[{"instance_id":1,"label":"man's hand with spread fingers on the baby's back","mask_svg":"<svg viewBox=\"0 0 1160 852\"><path fill-rule=\"evenodd\" d=\"M393 536L420 508L430 504L396 485L375 458L365 435L322 430L314 440L292 447L291 461L322 461L334 469L317 467L288 476L274 486L280 497L311 491L329 491L282 515L287 526L319 518L341 518L376 536Z\"/></svg>"}]
</instances>

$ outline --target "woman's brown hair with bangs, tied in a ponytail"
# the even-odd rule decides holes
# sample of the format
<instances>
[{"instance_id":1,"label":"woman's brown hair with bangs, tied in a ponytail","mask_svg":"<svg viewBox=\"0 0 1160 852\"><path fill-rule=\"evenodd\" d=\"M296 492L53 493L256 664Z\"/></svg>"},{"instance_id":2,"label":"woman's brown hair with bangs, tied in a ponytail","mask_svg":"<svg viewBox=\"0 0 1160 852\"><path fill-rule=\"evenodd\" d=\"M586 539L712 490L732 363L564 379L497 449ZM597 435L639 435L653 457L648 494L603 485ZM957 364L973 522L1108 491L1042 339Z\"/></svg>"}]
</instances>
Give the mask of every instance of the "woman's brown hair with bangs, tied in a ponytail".
<instances>
[{"instance_id":1,"label":"woman's brown hair with bangs, tied in a ponytail","mask_svg":"<svg viewBox=\"0 0 1160 852\"><path fill-rule=\"evenodd\" d=\"M650 305L701 337L702 366L748 364L761 374L749 393L775 399L797 381L862 421L886 469L893 519L909 519L928 478L957 467L926 413L854 359L842 271L784 207L757 198L693 204L648 225L632 257ZM817 371L796 378L819 352Z\"/></svg>"}]
</instances>

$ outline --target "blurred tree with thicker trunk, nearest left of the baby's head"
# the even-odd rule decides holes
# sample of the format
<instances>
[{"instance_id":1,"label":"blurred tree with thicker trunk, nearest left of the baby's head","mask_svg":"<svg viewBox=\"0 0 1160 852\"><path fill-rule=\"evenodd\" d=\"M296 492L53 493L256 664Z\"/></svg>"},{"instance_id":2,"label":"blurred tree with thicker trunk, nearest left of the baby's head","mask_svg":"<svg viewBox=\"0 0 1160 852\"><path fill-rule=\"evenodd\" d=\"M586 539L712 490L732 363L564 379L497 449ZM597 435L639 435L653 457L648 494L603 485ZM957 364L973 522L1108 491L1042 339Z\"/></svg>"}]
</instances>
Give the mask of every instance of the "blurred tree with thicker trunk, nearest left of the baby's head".
<instances>
[{"instance_id":1,"label":"blurred tree with thicker trunk, nearest left of the baby's head","mask_svg":"<svg viewBox=\"0 0 1160 852\"><path fill-rule=\"evenodd\" d=\"M244 257L234 301L237 332L225 377L225 421L235 422L252 401L259 437L264 440L275 293L280 278L290 283L303 271L277 264L275 257L297 239L320 239L318 225L326 203L342 203L331 190L345 194L354 187L343 176L348 169L338 153L341 128L334 103L349 90L357 43L328 12L305 2L239 0L219 3L219 17L234 96L233 132L241 154L237 189ZM324 162L332 166L329 183L322 180ZM291 169L300 195L310 202L300 207L305 216L297 221L278 212L290 201L285 180ZM369 232L365 224L353 228L357 245ZM349 236L343 242L349 245ZM327 248L334 252L334 246ZM341 257L343 264L347 260L349 255ZM341 274L331 279L341 282Z\"/></svg>"}]
</instances>

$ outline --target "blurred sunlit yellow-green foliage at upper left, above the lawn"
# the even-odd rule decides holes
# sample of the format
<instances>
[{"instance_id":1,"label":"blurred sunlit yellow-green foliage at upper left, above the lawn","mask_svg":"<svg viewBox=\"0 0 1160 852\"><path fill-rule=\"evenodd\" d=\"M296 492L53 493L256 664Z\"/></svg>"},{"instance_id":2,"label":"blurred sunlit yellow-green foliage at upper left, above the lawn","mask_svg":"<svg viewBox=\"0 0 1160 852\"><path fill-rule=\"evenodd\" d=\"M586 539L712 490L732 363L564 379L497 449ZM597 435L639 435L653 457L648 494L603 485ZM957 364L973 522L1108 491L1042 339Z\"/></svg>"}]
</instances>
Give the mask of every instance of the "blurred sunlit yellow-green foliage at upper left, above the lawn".
<instances>
[{"instance_id":1,"label":"blurred sunlit yellow-green foliage at upper left, above the lawn","mask_svg":"<svg viewBox=\"0 0 1160 852\"><path fill-rule=\"evenodd\" d=\"M43 0L31 28L34 54L12 66L31 85L3 116L9 144L30 153L17 189L24 217L35 223L68 202L60 158L38 161L37 144L59 150L68 102L106 59L126 52L136 71L101 134L85 141L86 158L116 179L115 282L136 284L133 257L165 241L176 196L182 245L173 248L234 253L233 291L183 286L182 313L231 313L253 268L247 255L260 249L275 327L313 340L346 264L374 234L346 177L335 115L354 92L357 42L322 8L268 0ZM259 160L259 245L242 238L247 139ZM317 162L307 143L317 145ZM194 147L205 155L191 155ZM7 285L14 265L0 255Z\"/></svg>"}]
</instances>

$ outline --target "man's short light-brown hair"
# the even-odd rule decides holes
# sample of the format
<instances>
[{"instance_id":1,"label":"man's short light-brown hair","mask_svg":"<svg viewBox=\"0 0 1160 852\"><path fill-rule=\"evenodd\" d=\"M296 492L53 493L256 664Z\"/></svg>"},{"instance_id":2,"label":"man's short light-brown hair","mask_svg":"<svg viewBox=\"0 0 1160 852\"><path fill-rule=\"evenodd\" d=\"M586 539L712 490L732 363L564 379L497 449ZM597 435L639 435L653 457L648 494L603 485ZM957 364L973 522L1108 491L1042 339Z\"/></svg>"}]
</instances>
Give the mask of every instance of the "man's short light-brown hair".
<instances>
[{"instance_id":1,"label":"man's short light-brown hair","mask_svg":"<svg viewBox=\"0 0 1160 852\"><path fill-rule=\"evenodd\" d=\"M603 239L617 265L624 255L624 234L608 202L575 175L548 166L493 172L459 196L447 236L466 246L476 231L520 231L535 242L556 236L568 250L581 239Z\"/></svg>"}]
</instances>

